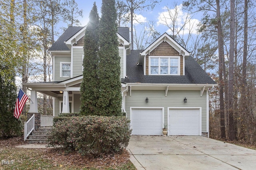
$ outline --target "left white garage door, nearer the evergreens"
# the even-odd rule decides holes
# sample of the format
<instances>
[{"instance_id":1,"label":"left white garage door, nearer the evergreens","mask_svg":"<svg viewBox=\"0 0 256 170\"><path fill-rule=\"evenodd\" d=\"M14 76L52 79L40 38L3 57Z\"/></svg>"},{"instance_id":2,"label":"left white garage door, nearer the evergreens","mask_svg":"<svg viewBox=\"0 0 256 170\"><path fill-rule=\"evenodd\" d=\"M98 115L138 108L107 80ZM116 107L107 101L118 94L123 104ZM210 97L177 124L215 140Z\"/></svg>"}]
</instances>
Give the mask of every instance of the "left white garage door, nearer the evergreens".
<instances>
[{"instance_id":1,"label":"left white garage door, nearer the evergreens","mask_svg":"<svg viewBox=\"0 0 256 170\"><path fill-rule=\"evenodd\" d=\"M162 135L163 111L132 108L131 125L132 135Z\"/></svg>"}]
</instances>

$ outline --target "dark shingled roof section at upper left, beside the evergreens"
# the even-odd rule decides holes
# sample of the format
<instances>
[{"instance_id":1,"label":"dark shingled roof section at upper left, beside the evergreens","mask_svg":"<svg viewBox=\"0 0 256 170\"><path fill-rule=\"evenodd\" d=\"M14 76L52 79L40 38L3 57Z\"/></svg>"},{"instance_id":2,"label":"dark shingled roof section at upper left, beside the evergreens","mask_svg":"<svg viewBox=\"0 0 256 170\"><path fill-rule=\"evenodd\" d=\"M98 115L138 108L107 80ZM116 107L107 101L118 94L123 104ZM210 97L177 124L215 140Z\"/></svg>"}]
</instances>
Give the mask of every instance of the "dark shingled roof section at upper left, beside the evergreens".
<instances>
[{"instance_id":1,"label":"dark shingled roof section at upper left, beside the evergreens","mask_svg":"<svg viewBox=\"0 0 256 170\"><path fill-rule=\"evenodd\" d=\"M82 28L83 27L68 27L48 51L70 51L68 46L65 44L65 41L75 35Z\"/></svg>"}]
</instances>

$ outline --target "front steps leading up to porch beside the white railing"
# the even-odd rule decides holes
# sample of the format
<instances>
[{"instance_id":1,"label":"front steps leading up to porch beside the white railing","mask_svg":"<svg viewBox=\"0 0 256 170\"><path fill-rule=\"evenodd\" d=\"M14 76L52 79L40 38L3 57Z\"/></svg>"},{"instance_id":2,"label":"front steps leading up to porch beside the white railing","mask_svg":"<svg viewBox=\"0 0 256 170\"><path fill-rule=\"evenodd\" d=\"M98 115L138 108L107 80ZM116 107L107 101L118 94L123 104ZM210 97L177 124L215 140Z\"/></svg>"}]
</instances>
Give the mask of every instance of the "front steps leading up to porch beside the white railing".
<instances>
[{"instance_id":1,"label":"front steps leading up to porch beside the white railing","mask_svg":"<svg viewBox=\"0 0 256 170\"><path fill-rule=\"evenodd\" d=\"M45 144L48 140L48 134L52 130L51 127L40 127L36 131L32 131L32 133L26 139L27 143L41 143Z\"/></svg>"}]
</instances>

